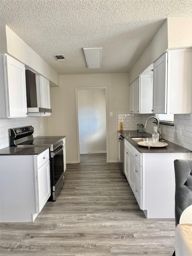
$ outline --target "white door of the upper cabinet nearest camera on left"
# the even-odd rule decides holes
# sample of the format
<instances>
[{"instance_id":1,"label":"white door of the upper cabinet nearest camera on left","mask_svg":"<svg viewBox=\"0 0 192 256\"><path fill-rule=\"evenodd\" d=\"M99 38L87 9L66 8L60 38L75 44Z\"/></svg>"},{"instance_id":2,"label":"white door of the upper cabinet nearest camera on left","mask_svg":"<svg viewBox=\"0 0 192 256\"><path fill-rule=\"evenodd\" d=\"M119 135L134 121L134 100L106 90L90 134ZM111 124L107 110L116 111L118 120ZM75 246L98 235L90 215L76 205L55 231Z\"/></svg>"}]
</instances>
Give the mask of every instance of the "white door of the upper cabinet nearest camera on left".
<instances>
[{"instance_id":1,"label":"white door of the upper cabinet nearest camera on left","mask_svg":"<svg viewBox=\"0 0 192 256\"><path fill-rule=\"evenodd\" d=\"M25 117L27 116L25 66L8 55L4 55L4 62L7 117Z\"/></svg>"}]
</instances>

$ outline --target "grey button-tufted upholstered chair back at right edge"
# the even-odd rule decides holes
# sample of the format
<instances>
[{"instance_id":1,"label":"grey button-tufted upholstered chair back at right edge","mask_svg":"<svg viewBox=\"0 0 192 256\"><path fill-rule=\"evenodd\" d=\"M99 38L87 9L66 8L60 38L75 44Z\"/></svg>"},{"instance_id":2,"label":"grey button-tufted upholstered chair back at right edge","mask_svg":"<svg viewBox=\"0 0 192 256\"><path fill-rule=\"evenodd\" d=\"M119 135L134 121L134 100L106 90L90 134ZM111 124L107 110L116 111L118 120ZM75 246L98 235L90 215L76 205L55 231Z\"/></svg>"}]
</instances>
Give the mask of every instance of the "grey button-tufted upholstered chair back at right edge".
<instances>
[{"instance_id":1,"label":"grey button-tufted upholstered chair back at right edge","mask_svg":"<svg viewBox=\"0 0 192 256\"><path fill-rule=\"evenodd\" d=\"M176 159L175 166L175 222L179 224L182 212L192 204L192 160ZM173 253L175 255L175 252Z\"/></svg>"}]
</instances>

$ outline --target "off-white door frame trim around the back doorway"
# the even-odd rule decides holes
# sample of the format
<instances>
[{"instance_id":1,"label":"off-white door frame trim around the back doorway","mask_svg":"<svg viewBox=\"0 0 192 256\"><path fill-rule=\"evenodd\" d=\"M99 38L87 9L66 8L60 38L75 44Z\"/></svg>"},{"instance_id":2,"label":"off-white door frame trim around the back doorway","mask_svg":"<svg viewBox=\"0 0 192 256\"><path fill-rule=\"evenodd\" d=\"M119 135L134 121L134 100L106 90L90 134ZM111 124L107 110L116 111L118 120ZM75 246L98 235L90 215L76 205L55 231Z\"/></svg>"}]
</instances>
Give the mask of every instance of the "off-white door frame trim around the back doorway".
<instances>
[{"instance_id":1,"label":"off-white door frame trim around the back doorway","mask_svg":"<svg viewBox=\"0 0 192 256\"><path fill-rule=\"evenodd\" d=\"M79 144L79 114L78 114L78 90L103 89L105 90L105 104L106 104L106 149L107 162L109 162L109 120L108 120L108 88L107 86L89 86L89 87L75 87L75 109L76 109L76 131L77 131L77 161L80 163L80 144Z\"/></svg>"}]
</instances>

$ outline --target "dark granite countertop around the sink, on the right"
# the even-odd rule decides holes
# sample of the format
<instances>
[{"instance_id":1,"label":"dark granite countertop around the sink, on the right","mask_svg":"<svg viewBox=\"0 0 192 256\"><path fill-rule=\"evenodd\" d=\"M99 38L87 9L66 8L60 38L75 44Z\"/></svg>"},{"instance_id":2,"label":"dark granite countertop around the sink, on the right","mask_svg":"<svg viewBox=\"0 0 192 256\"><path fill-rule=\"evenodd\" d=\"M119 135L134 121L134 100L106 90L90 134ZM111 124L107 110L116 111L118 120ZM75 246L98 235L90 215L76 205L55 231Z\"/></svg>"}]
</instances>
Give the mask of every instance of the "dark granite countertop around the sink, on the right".
<instances>
[{"instance_id":1,"label":"dark granite countertop around the sink, on the right","mask_svg":"<svg viewBox=\"0 0 192 256\"><path fill-rule=\"evenodd\" d=\"M143 132L138 133L137 131L118 131L131 145L134 146L140 153L187 153L192 152L189 149L183 148L179 145L171 143L166 140L168 144L163 148L150 148L139 146L136 141L132 140L131 137L152 137L152 134Z\"/></svg>"}]
</instances>

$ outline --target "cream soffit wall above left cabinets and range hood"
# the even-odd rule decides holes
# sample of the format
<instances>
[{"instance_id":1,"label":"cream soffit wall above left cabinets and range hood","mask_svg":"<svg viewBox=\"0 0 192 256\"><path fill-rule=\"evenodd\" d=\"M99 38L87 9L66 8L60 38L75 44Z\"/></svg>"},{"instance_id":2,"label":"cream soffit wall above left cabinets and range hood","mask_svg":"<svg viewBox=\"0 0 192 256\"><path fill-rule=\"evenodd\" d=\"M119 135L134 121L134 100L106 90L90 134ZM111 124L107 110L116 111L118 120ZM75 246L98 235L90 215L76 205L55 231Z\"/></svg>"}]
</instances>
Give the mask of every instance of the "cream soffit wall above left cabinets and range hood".
<instances>
[{"instance_id":1,"label":"cream soffit wall above left cabinets and range hood","mask_svg":"<svg viewBox=\"0 0 192 256\"><path fill-rule=\"evenodd\" d=\"M7 25L1 24L1 53L7 53L59 86L59 75Z\"/></svg>"}]
</instances>

